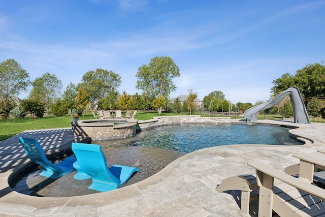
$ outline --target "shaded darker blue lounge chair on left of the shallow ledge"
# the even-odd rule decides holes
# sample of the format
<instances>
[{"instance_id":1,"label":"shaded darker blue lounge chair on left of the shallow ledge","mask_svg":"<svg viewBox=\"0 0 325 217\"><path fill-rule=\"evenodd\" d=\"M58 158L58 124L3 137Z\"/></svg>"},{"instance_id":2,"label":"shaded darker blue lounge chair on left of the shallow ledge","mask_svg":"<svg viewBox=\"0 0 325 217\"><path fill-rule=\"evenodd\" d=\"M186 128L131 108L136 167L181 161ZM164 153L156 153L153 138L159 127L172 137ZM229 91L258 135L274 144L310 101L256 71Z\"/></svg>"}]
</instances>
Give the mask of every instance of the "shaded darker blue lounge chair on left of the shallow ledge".
<instances>
[{"instance_id":1,"label":"shaded darker blue lounge chair on left of the shallow ledge","mask_svg":"<svg viewBox=\"0 0 325 217\"><path fill-rule=\"evenodd\" d=\"M54 165L47 160L44 150L36 139L19 137L19 142L25 149L27 157L44 168L40 175L56 179L74 170L73 163L77 161L76 158L66 158Z\"/></svg>"}]
</instances>

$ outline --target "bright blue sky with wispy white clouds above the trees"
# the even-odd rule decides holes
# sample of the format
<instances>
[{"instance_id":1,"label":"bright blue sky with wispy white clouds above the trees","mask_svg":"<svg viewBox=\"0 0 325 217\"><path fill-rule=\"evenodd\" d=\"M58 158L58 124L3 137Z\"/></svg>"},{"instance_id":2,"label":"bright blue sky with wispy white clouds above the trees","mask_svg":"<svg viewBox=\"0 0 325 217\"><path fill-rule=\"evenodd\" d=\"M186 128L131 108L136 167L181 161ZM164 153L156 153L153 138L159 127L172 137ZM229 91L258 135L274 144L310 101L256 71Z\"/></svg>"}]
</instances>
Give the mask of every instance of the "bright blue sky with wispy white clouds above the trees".
<instances>
[{"instance_id":1,"label":"bright blue sky with wispy white clouds above the trees","mask_svg":"<svg viewBox=\"0 0 325 217\"><path fill-rule=\"evenodd\" d=\"M171 97L220 90L232 103L269 100L272 81L325 60L325 0L2 0L0 62L63 88L89 70L119 74L119 91L155 56L180 69ZM20 95L25 98L27 93Z\"/></svg>"}]
</instances>

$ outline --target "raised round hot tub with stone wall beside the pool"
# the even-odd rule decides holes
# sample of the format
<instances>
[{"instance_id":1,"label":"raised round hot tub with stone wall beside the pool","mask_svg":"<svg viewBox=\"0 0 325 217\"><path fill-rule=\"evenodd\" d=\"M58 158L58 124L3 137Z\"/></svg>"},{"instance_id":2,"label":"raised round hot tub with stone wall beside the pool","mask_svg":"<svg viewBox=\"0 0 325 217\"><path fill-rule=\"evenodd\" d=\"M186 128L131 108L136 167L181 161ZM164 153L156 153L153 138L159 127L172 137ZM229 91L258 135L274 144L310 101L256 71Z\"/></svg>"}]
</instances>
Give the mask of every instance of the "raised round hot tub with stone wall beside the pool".
<instances>
[{"instance_id":1,"label":"raised round hot tub with stone wall beside the pool","mask_svg":"<svg viewBox=\"0 0 325 217\"><path fill-rule=\"evenodd\" d=\"M133 119L93 119L70 123L76 136L91 137L91 140L109 140L131 137L136 134L137 122Z\"/></svg>"}]
</instances>

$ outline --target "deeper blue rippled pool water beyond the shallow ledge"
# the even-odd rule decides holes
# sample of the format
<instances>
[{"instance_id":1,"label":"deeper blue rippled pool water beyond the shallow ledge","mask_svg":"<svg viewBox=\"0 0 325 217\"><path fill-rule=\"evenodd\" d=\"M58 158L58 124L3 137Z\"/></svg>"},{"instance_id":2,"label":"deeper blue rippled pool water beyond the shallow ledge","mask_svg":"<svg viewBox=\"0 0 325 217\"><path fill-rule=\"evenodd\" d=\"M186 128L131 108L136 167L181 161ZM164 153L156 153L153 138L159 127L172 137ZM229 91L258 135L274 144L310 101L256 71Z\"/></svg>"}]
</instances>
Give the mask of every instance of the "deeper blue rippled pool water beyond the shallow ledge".
<instances>
[{"instance_id":1,"label":"deeper blue rippled pool water beyond the shallow ledge","mask_svg":"<svg viewBox=\"0 0 325 217\"><path fill-rule=\"evenodd\" d=\"M189 153L230 144L302 145L289 137L289 128L270 125L183 125L142 131L123 140L93 141L102 147L149 146Z\"/></svg>"}]
</instances>

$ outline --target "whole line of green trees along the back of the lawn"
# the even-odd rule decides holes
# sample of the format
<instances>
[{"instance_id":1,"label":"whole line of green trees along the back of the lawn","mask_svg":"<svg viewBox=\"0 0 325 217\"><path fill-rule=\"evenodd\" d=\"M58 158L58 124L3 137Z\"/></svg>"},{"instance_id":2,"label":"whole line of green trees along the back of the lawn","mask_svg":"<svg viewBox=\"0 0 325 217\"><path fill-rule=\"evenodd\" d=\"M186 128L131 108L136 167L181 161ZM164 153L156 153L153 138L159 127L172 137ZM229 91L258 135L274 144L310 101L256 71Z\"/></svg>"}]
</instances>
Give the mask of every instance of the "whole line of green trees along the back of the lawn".
<instances>
[{"instance_id":1,"label":"whole line of green trees along the back of the lawn","mask_svg":"<svg viewBox=\"0 0 325 217\"><path fill-rule=\"evenodd\" d=\"M24 117L27 113L32 118L42 117L45 111L56 116L72 113L82 114L89 105L96 109L158 109L171 108L176 112L187 111L190 114L196 109L198 94L192 89L188 90L188 98L181 104L178 98L171 104L169 95L176 90L174 78L179 78L179 68L171 57L153 57L148 65L139 67L136 74L136 88L142 90L139 94L129 95L124 90L119 94L118 87L121 84L121 76L108 70L89 70L78 84L71 83L62 92L62 82L55 74L45 73L34 81L29 80L29 74L14 60L7 59L0 63L0 115L3 119L10 115ZM271 99L281 91L291 86L299 87L304 98L308 101L308 112L312 116L322 114L322 104L319 97L325 97L325 66L321 64L309 64L295 75L283 74L273 80ZM32 86L26 99L20 100L17 106L15 98L21 92L27 91ZM270 100L271 100L270 99ZM264 103L257 101L256 104ZM256 105L255 104L255 105ZM241 111L252 107L251 103L238 102L232 104L225 99L222 91L212 91L203 99L203 106L209 111ZM271 110L276 113L286 111L283 116L291 115L289 100L284 100Z\"/></svg>"}]
</instances>

